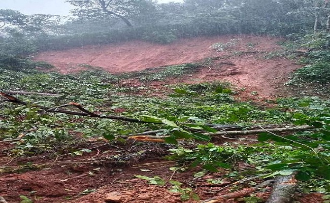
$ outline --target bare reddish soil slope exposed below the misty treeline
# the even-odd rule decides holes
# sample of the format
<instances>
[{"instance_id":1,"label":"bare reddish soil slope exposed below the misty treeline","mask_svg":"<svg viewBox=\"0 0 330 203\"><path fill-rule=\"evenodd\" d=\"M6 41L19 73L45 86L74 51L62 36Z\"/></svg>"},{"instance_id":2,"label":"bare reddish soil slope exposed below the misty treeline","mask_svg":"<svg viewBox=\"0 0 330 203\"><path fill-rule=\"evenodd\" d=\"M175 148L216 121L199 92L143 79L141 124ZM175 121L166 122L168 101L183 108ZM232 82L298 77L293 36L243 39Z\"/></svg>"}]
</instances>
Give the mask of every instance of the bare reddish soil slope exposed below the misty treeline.
<instances>
[{"instance_id":1,"label":"bare reddish soil slope exposed below the misty treeline","mask_svg":"<svg viewBox=\"0 0 330 203\"><path fill-rule=\"evenodd\" d=\"M181 39L170 45L131 41L48 51L40 53L35 59L48 61L56 66L56 71L68 74L86 69L81 64L100 66L111 73L122 73L220 57L221 59L210 63L197 74L164 83L228 80L248 92L256 91L261 97L273 98L283 94L283 84L300 67L288 59L267 59L267 55L281 50L276 45L279 40L281 39L256 36L220 36ZM234 42L235 45L224 47L223 51L216 51L211 47L215 43L226 45Z\"/></svg>"}]
</instances>

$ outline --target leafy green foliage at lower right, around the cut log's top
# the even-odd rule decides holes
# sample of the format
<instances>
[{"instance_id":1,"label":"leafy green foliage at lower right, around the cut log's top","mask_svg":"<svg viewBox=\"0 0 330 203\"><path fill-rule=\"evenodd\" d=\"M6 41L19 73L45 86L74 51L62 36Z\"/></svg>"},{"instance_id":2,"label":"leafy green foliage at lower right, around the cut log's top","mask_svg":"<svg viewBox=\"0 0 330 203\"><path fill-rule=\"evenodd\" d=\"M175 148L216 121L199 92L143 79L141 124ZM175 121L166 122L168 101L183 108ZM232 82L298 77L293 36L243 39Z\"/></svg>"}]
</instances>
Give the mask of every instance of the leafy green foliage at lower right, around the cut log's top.
<instances>
[{"instance_id":1,"label":"leafy green foliage at lower right, around the cut log's top","mask_svg":"<svg viewBox=\"0 0 330 203\"><path fill-rule=\"evenodd\" d=\"M305 130L286 136L260 133L259 144L249 146L216 146L212 143L198 145L195 149L178 147L170 149L169 160L182 164L175 171L201 166L204 170L217 172L225 168L235 172L234 166L246 162L255 169L249 174L263 178L278 175L294 175L305 184L305 189L330 192L330 111L317 116L294 115L295 124L308 124L317 130ZM272 142L267 142L267 141ZM181 168L184 167L184 170ZM237 172L243 173L243 172ZM310 182L315 180L314 182ZM319 184L317 184L317 180ZM308 184L306 181L309 181Z\"/></svg>"}]
</instances>

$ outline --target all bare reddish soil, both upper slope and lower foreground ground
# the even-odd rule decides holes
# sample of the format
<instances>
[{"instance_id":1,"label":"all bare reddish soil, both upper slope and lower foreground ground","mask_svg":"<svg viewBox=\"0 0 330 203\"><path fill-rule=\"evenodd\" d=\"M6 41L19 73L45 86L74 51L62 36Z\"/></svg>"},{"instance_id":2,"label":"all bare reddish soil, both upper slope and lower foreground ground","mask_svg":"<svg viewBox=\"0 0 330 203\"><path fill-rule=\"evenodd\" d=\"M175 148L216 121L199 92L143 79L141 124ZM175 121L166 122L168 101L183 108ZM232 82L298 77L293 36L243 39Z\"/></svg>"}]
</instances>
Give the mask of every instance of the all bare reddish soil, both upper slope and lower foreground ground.
<instances>
[{"instance_id":1,"label":"all bare reddish soil, both upper slope and lower foreground ground","mask_svg":"<svg viewBox=\"0 0 330 203\"><path fill-rule=\"evenodd\" d=\"M227 43L230 39L241 40L224 51L217 52L211 48L214 43ZM219 57L197 73L152 82L150 86L162 91L164 84L227 80L238 88L244 88L246 96L269 99L285 95L283 84L288 81L292 71L300 67L288 59L265 57L267 53L275 53L281 49L275 44L279 40L281 39L255 36L224 36L182 39L170 45L132 41L48 51L35 56L35 60L48 61L56 66L56 71L68 74L83 70L79 66L83 63L100 66L111 73L122 73ZM127 86L142 85L134 80L122 83ZM255 94L252 95L253 92ZM193 178L199 168L174 173L169 168L176 163L160 158L171 148L166 144L145 142L140 145L114 145L104 141L90 141L83 146L76 146L77 149L91 149L91 153L84 153L82 156L44 153L31 157L9 157L9 151L13 147L10 143L0 143L0 166L8 166L7 169L12 170L11 173L0 173L0 196L9 203L20 202L19 195L25 195L37 203L181 202L179 193L168 190L171 187L169 183L167 187L150 185L134 175L159 176L166 181L179 181L183 183L182 187L193 188L201 199L226 194L228 189L221 192L218 190L237 181L222 179L226 171L208 174L203 178ZM145 149L150 153L140 159L128 157L129 153L134 154ZM120 161L121 159L125 161ZM31 163L31 166L14 170L27 163ZM222 182L210 184L207 179L222 179ZM265 191L254 195L266 200L270 190L271 187L267 187ZM322 202L320 194L296 194L296 200L301 203ZM223 202L238 201L228 199Z\"/></svg>"}]
</instances>

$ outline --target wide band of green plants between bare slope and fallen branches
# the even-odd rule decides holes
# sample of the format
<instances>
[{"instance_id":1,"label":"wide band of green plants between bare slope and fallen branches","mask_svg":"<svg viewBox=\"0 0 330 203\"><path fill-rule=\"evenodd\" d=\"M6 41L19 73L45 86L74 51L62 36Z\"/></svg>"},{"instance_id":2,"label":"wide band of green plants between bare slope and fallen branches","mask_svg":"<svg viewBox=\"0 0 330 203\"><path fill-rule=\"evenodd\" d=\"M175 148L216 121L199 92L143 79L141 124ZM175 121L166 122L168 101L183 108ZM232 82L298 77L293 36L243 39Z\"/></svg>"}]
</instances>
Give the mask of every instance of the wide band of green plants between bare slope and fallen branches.
<instances>
[{"instance_id":1,"label":"wide band of green plants between bare slope and fallen branches","mask_svg":"<svg viewBox=\"0 0 330 203\"><path fill-rule=\"evenodd\" d=\"M184 74L185 71L198 67L198 64L164 67L163 73L166 74L161 77L171 77L174 70L177 69L184 70L180 73L177 72L178 74ZM171 85L172 93L169 95L149 97L126 94L133 89L118 87L117 81L123 76L112 75L94 67L79 74L69 75L43 73L36 69L29 69L27 72L7 70L2 67L0 69L2 71L0 81L5 81L1 83L2 89L62 94L60 97L16 95L29 103L28 107L18 107L5 102L0 104L2 107L0 116L6 118L0 120L1 139L14 139L21 133L26 133L22 139L23 142L18 142L17 147L21 150L25 149L27 152L49 151L54 145L58 146L70 141L77 132L82 133L82 136L86 138L104 137L113 140L120 135L166 128L167 131L164 131L164 135L170 136L167 141L171 143L176 143L176 139L180 138L208 140L209 137L190 132L190 128L202 128L208 131L210 129L203 126L203 123L248 125L253 122L294 121L293 113L287 111L288 108L295 113L306 113L305 110L301 110L299 105L288 107L291 103L289 100L287 104L284 101L281 101L283 104L278 101L278 107L270 109L259 108L248 102L237 102L233 97L235 92L230 89L230 84L222 82ZM154 78L155 75L147 75L147 73L160 73L154 71L137 72L134 73L136 74L134 77L143 75ZM134 90L137 91L139 88L145 90L146 87L141 86ZM71 101L100 114L121 115L137 119L146 119L147 117L143 115L147 115L149 120L157 122L156 124L130 123L126 125L117 120L49 114L34 107L34 105L41 105L52 108ZM320 100L319 104L321 103ZM116 111L116 109L120 109L120 111ZM69 107L68 110L79 111ZM309 115L313 115L314 110L309 111ZM165 126L160 124L164 124L163 121L166 121ZM170 124L171 122L177 126ZM182 122L191 124L189 124L190 126L181 125ZM37 129L29 131L35 127ZM178 127L178 130L173 130Z\"/></svg>"}]
</instances>

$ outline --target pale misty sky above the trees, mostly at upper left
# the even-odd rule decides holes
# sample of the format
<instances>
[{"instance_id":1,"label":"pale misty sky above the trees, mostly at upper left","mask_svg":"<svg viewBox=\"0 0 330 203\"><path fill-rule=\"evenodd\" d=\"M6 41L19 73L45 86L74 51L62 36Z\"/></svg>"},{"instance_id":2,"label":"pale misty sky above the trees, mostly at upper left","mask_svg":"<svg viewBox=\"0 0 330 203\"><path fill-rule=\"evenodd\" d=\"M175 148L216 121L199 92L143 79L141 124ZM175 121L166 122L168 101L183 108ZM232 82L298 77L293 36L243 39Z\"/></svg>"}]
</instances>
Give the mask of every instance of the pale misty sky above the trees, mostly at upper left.
<instances>
[{"instance_id":1,"label":"pale misty sky above the trees, mostly at upper left","mask_svg":"<svg viewBox=\"0 0 330 203\"><path fill-rule=\"evenodd\" d=\"M158 0L158 3L183 2L183 0ZM12 9L23 14L70 15L75 7L65 0L0 0L0 9Z\"/></svg>"}]
</instances>

